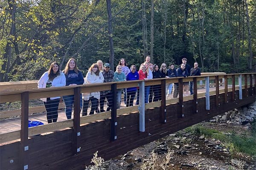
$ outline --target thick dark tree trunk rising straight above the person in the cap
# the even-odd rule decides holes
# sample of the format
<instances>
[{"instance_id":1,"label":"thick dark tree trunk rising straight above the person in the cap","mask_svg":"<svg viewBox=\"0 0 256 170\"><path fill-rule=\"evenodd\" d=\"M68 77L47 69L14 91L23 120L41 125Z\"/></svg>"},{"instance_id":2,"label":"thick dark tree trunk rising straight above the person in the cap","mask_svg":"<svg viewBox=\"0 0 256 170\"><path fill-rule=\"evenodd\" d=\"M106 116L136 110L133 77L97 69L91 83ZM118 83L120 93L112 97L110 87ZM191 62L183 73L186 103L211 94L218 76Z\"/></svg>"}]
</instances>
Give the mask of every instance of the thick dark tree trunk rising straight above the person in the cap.
<instances>
[{"instance_id":1,"label":"thick dark tree trunk rising straight above the person in the cap","mask_svg":"<svg viewBox=\"0 0 256 170\"><path fill-rule=\"evenodd\" d=\"M111 0L107 1L107 10L108 10L108 38L109 38L109 50L110 58L109 62L111 65L111 70L114 70L114 45L113 45L113 29L112 29L112 13L111 13Z\"/></svg>"}]
</instances>

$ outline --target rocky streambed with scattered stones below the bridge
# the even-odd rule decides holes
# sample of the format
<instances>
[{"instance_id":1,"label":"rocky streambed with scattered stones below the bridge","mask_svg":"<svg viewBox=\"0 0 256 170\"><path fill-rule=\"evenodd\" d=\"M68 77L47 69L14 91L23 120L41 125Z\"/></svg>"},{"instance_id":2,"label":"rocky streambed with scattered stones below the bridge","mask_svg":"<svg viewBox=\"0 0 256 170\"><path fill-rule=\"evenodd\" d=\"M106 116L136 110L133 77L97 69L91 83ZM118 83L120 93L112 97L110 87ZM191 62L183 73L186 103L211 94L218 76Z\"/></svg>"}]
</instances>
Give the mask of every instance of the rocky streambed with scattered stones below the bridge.
<instances>
[{"instance_id":1,"label":"rocky streambed with scattered stones below the bridge","mask_svg":"<svg viewBox=\"0 0 256 170\"><path fill-rule=\"evenodd\" d=\"M250 136L256 129L256 103L215 116L196 127L145 144L91 170L256 170L254 155L235 150L222 136ZM200 128L203 129L200 129ZM195 131L208 130L213 137ZM206 131L206 132L208 132ZM216 133L216 134L215 134ZM217 138L215 139L214 136ZM254 140L252 142L256 142ZM256 146L252 145L252 146ZM100 151L99 151L100 152Z\"/></svg>"}]
</instances>

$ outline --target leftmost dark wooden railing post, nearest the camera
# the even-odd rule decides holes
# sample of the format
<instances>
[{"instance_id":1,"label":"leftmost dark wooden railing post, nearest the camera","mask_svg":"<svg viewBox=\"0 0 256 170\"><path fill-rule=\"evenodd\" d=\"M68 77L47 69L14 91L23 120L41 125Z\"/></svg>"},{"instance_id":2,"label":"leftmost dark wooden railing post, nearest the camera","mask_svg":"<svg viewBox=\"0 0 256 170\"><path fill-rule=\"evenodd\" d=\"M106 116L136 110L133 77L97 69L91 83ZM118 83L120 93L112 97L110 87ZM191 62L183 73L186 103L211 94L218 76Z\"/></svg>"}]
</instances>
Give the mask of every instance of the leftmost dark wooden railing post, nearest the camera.
<instances>
[{"instance_id":1,"label":"leftmost dark wooden railing post, nearest the camera","mask_svg":"<svg viewBox=\"0 0 256 170\"><path fill-rule=\"evenodd\" d=\"M20 169L29 169L29 92L21 94Z\"/></svg>"}]
</instances>

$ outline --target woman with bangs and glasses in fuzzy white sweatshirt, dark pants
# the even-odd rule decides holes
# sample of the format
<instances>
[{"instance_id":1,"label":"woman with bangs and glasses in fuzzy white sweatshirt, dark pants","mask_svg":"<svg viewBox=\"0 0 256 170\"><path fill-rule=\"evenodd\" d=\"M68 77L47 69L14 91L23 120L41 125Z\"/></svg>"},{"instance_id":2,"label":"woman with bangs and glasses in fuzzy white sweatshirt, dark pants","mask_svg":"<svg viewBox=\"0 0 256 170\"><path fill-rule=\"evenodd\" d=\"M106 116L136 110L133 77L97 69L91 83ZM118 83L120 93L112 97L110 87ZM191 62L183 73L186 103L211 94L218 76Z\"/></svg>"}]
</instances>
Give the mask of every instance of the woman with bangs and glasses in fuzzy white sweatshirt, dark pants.
<instances>
[{"instance_id":1,"label":"woman with bangs and glasses in fuzzy white sweatshirt, dark pants","mask_svg":"<svg viewBox=\"0 0 256 170\"><path fill-rule=\"evenodd\" d=\"M99 66L97 64L93 64L90 66L88 73L86 74L86 77L84 79L84 84L94 84L94 83L102 83L104 81L104 77L102 75L102 72L99 70ZM91 110L89 114L94 114L94 111L97 108L97 101L100 98L99 91L96 92L90 92L90 93L83 93L82 99L83 99L83 112L82 116L87 116L87 109L89 105L89 100L91 101Z\"/></svg>"}]
</instances>

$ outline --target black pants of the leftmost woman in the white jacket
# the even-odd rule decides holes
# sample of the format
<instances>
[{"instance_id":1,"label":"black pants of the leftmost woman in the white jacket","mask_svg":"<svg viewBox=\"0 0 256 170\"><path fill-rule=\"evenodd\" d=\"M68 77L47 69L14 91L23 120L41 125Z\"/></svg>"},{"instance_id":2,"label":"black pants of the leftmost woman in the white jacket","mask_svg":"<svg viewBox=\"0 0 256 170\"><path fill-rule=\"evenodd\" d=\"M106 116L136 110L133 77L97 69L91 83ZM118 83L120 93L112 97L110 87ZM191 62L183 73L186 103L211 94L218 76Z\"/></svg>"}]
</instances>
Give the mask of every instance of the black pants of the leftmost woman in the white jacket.
<instances>
[{"instance_id":1,"label":"black pants of the leftmost woman in the white jacket","mask_svg":"<svg viewBox=\"0 0 256 170\"><path fill-rule=\"evenodd\" d=\"M60 99L51 100L49 97L47 98L47 101L44 102L48 123L57 122L59 102L60 102Z\"/></svg>"}]
</instances>

